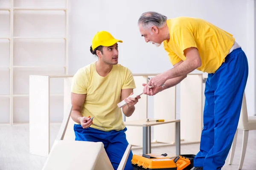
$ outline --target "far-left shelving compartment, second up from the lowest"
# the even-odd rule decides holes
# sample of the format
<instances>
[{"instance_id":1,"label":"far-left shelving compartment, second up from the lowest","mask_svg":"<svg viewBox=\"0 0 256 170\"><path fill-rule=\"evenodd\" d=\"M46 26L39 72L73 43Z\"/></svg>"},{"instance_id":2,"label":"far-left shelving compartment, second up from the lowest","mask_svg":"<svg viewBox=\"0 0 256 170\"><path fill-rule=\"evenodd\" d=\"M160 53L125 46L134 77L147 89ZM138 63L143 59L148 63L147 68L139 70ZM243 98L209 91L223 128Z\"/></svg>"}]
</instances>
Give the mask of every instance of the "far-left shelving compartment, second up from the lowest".
<instances>
[{"instance_id":1,"label":"far-left shelving compartment, second up from the lowest","mask_svg":"<svg viewBox=\"0 0 256 170\"><path fill-rule=\"evenodd\" d=\"M10 80L9 80L9 68L0 68L0 95L1 94L10 94Z\"/></svg>"}]
</instances>

